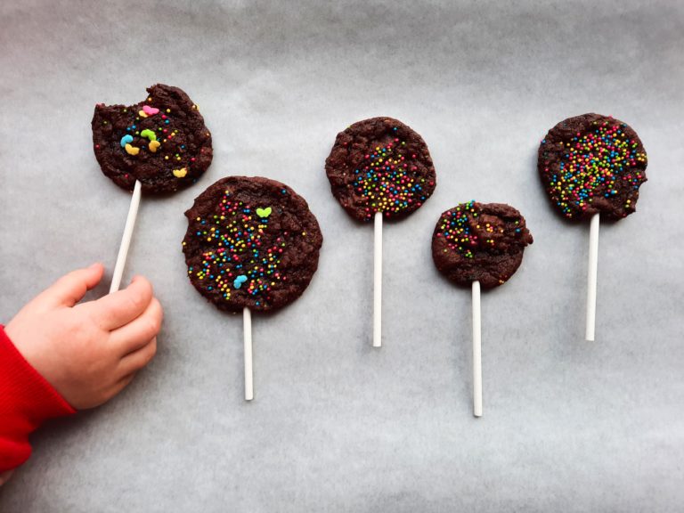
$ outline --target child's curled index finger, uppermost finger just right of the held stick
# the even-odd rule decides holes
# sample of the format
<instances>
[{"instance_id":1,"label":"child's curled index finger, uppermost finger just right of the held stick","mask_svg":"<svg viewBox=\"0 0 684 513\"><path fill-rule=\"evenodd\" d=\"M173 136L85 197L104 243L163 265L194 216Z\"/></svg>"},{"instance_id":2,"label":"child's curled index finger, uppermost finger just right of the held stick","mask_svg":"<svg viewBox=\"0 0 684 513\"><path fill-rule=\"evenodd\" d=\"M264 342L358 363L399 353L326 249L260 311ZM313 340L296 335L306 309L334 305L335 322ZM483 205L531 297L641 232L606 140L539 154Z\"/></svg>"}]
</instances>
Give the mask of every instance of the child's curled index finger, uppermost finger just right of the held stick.
<instances>
[{"instance_id":1,"label":"child's curled index finger, uppermost finger just right of the held stick","mask_svg":"<svg viewBox=\"0 0 684 513\"><path fill-rule=\"evenodd\" d=\"M151 299L150 281L137 276L126 289L85 305L92 309L94 317L104 330L116 330L139 317L150 305Z\"/></svg>"}]
</instances>

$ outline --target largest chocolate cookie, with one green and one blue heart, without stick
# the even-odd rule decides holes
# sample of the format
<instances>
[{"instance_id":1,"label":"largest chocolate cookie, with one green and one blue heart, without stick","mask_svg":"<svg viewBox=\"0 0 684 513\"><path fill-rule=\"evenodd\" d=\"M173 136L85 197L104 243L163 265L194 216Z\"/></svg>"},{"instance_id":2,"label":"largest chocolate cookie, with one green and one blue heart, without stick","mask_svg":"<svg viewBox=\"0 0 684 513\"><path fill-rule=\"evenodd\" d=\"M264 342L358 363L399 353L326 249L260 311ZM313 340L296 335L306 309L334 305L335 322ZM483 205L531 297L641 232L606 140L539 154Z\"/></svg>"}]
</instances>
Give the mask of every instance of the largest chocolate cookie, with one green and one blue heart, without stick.
<instances>
[{"instance_id":1,"label":"largest chocolate cookie, with one green and one blue heart, without stick","mask_svg":"<svg viewBox=\"0 0 684 513\"><path fill-rule=\"evenodd\" d=\"M305 199L280 182L223 178L185 216L188 276L222 310L281 308L301 296L316 272L321 229Z\"/></svg>"}]
</instances>

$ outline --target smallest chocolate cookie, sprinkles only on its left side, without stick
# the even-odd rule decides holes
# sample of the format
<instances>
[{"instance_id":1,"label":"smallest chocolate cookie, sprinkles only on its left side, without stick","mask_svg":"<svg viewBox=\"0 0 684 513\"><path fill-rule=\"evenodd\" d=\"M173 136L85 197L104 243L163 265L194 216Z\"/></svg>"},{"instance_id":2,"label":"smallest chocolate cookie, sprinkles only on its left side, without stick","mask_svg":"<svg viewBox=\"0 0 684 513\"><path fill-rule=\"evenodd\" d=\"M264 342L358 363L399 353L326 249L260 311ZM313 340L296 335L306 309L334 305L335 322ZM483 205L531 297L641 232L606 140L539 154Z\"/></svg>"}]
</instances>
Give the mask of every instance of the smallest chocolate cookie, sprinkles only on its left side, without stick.
<instances>
[{"instance_id":1,"label":"smallest chocolate cookie, sprinkles only on its left side, without stick","mask_svg":"<svg viewBox=\"0 0 684 513\"><path fill-rule=\"evenodd\" d=\"M468 201L439 217L432 236L432 258L440 273L458 285L479 281L492 289L507 281L532 244L525 218L501 203Z\"/></svg>"}]
</instances>

